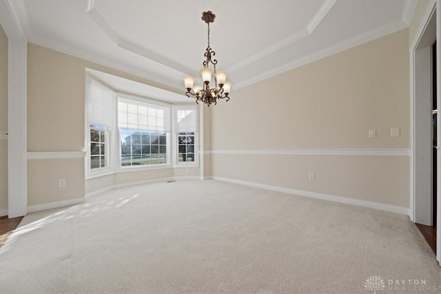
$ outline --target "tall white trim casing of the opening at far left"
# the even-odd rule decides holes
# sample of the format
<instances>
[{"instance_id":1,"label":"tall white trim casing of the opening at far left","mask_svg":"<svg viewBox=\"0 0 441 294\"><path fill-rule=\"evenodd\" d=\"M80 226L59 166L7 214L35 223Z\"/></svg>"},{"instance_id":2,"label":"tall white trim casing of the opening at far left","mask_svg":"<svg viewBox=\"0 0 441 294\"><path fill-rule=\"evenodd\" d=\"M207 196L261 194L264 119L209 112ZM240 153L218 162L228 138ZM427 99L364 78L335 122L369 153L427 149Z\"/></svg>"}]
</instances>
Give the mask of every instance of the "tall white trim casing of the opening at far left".
<instances>
[{"instance_id":1,"label":"tall white trim casing of the opening at far left","mask_svg":"<svg viewBox=\"0 0 441 294\"><path fill-rule=\"evenodd\" d=\"M13 1L0 1L0 24L8 36L8 215L28 211L28 43Z\"/></svg>"}]
</instances>

